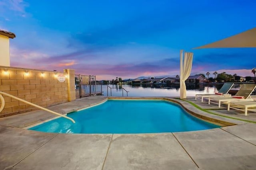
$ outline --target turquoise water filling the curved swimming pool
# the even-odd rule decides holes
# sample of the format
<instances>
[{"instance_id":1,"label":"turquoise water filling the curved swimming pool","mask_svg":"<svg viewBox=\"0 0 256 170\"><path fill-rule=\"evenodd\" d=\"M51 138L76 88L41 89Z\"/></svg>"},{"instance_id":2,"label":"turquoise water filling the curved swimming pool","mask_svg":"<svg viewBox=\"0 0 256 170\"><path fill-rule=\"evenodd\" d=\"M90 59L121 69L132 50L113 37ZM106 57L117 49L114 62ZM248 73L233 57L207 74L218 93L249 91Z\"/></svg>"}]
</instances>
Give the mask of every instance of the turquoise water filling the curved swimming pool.
<instances>
[{"instance_id":1,"label":"turquoise water filling the curved swimming pool","mask_svg":"<svg viewBox=\"0 0 256 170\"><path fill-rule=\"evenodd\" d=\"M158 100L108 100L30 130L52 133L161 133L220 127L197 119L179 105Z\"/></svg>"}]
</instances>

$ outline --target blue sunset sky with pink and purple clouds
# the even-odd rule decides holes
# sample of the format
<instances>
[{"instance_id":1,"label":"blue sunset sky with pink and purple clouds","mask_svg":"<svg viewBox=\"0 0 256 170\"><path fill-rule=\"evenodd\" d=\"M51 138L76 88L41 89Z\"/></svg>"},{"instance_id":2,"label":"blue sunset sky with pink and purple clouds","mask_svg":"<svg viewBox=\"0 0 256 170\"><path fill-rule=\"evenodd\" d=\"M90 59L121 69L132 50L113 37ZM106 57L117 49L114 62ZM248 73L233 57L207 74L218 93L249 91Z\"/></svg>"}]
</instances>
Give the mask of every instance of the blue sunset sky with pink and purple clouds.
<instances>
[{"instance_id":1,"label":"blue sunset sky with pink and purple clouds","mask_svg":"<svg viewBox=\"0 0 256 170\"><path fill-rule=\"evenodd\" d=\"M0 29L16 34L16 67L98 80L176 75L184 49L194 53L192 74L253 76L255 48L192 48L256 27L255 8L255 0L0 0Z\"/></svg>"}]
</instances>

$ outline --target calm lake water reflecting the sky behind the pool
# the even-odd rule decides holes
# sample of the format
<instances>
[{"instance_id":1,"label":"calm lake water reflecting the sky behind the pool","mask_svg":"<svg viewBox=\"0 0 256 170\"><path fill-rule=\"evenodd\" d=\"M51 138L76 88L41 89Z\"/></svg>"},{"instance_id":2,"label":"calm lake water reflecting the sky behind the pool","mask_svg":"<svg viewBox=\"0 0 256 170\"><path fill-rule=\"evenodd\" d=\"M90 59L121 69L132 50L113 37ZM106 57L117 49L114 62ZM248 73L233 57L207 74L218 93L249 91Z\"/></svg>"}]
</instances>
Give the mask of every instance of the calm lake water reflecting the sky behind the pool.
<instances>
[{"instance_id":1,"label":"calm lake water reflecting the sky behind the pool","mask_svg":"<svg viewBox=\"0 0 256 170\"><path fill-rule=\"evenodd\" d=\"M187 88L187 96L195 96L196 94L213 94L214 92L218 92L218 90L222 87L223 84L188 84ZM110 84L112 96L122 96L122 91L124 92L124 96L126 96L126 92L122 90L124 88L128 92L128 97L177 97L180 96L180 86L173 85L171 88L164 88L163 86L132 86L132 85L115 85ZM108 88L107 95L107 86L102 85L102 91L104 96L110 96L110 88Z\"/></svg>"}]
</instances>

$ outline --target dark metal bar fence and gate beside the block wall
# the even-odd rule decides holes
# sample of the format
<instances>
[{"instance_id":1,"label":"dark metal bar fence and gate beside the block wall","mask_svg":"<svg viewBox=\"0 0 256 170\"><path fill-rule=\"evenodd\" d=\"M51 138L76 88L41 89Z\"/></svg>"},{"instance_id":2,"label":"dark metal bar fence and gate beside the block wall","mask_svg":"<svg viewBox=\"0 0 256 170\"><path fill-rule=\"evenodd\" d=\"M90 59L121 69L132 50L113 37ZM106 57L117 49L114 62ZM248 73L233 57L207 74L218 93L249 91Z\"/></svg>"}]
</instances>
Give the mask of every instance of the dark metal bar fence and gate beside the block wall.
<instances>
[{"instance_id":1,"label":"dark metal bar fence and gate beside the block wall","mask_svg":"<svg viewBox=\"0 0 256 170\"><path fill-rule=\"evenodd\" d=\"M75 74L76 98L102 95L102 83L96 81L96 76Z\"/></svg>"}]
</instances>

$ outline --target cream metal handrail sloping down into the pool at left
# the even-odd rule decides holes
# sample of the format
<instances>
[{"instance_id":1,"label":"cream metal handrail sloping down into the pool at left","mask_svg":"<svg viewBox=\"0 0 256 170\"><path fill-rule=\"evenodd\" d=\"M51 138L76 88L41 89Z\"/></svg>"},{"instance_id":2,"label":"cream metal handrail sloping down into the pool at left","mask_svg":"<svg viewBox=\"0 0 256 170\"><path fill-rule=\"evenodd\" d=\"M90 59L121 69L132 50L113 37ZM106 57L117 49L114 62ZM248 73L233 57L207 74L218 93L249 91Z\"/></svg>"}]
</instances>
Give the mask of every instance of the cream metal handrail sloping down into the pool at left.
<instances>
[{"instance_id":1,"label":"cream metal handrail sloping down into the pool at left","mask_svg":"<svg viewBox=\"0 0 256 170\"><path fill-rule=\"evenodd\" d=\"M2 105L1 105L1 107L0 107L0 112L4 109L4 104L5 104L4 98L3 98L3 96L2 96L1 94L4 94L4 95L9 96L9 97L11 97L11 98L14 98L14 99L16 99L16 100L19 100L19 101L21 101L21 102L24 102L24 103L26 103L26 104L30 104L30 105L32 105L32 106L34 106L34 107L39 108L39 109L42 109L42 110L48 111L48 112L50 112L50 113L56 114L56 115L58 115L58 116L65 117L66 119L70 119L73 123L76 123L76 122L74 121L74 119L72 119L72 118L70 118L70 117L68 117L68 116L62 115L62 114L57 113L57 112L55 112L55 111L46 109L46 108L44 108L44 107L38 106L38 105L36 105L36 104L33 104L33 103L31 103L31 102L28 102L28 101L26 101L26 100L17 98L17 97L15 97L15 96L12 96L11 94L8 94L8 93L5 93L5 92L1 92L1 91L0 91L0 100L1 100L1 102L2 102Z\"/></svg>"}]
</instances>

